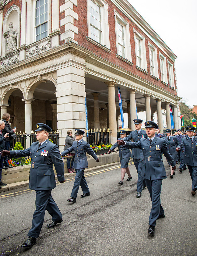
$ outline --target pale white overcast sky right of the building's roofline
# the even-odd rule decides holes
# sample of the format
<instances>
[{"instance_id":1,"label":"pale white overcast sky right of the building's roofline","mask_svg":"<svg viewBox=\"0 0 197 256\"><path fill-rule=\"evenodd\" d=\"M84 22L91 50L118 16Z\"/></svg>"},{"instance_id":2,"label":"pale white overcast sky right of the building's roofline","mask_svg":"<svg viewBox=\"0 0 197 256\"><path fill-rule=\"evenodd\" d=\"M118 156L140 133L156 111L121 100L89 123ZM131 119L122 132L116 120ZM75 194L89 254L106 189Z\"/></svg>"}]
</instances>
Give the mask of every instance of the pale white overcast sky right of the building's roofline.
<instances>
[{"instance_id":1,"label":"pale white overcast sky right of the building's roofline","mask_svg":"<svg viewBox=\"0 0 197 256\"><path fill-rule=\"evenodd\" d=\"M178 96L197 105L197 1L128 0L175 53Z\"/></svg>"}]
</instances>

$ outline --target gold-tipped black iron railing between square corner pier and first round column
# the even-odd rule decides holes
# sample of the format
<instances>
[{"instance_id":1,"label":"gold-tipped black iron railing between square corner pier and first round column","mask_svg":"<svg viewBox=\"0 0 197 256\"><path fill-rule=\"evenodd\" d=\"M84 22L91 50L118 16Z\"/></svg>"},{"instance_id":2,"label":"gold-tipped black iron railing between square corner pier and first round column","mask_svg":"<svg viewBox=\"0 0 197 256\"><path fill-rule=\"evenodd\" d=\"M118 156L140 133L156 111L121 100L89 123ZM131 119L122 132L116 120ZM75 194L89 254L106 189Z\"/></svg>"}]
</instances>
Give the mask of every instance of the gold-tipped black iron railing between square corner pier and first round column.
<instances>
[{"instance_id":1,"label":"gold-tipped black iron railing between square corner pier and first round column","mask_svg":"<svg viewBox=\"0 0 197 256\"><path fill-rule=\"evenodd\" d=\"M89 129L86 133L86 139L90 145L106 145L110 143L110 133L108 128Z\"/></svg>"}]
</instances>

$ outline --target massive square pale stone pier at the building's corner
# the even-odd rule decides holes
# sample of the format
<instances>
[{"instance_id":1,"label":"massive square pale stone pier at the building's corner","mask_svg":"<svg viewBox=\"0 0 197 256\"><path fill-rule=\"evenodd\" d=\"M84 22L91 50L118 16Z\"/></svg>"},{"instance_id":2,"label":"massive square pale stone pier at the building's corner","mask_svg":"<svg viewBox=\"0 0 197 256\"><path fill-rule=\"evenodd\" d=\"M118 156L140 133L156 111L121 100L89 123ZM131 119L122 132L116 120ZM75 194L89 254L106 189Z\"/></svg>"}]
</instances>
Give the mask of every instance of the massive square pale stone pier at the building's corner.
<instances>
[{"instance_id":1,"label":"massive square pale stone pier at the building's corner","mask_svg":"<svg viewBox=\"0 0 197 256\"><path fill-rule=\"evenodd\" d=\"M72 53L65 54L62 68L57 69L56 97L60 151L64 148L68 129L78 128L86 131L84 58ZM85 134L83 140L86 140Z\"/></svg>"}]
</instances>

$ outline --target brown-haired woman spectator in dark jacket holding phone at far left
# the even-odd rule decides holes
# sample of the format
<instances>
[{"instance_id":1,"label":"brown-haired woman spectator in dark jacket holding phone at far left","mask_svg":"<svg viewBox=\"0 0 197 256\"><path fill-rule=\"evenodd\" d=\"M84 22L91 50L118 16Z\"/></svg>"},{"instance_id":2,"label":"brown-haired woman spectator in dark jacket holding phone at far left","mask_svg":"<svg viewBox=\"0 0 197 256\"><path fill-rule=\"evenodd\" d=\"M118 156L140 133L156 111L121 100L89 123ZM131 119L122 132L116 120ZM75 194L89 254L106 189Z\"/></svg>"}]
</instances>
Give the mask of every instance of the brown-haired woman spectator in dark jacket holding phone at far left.
<instances>
[{"instance_id":1,"label":"brown-haired woman spectator in dark jacket holding phone at far left","mask_svg":"<svg viewBox=\"0 0 197 256\"><path fill-rule=\"evenodd\" d=\"M5 138L5 149L9 150L10 148L10 141L13 140L16 137L16 129L11 128L11 123L9 123L10 119L10 114L9 113L4 113L2 116L2 121L5 122L5 128L2 130L2 135L4 136L5 133L9 133L9 137ZM8 169L12 168L13 166L9 165L8 163L8 157L4 157L4 166L3 169Z\"/></svg>"}]
</instances>

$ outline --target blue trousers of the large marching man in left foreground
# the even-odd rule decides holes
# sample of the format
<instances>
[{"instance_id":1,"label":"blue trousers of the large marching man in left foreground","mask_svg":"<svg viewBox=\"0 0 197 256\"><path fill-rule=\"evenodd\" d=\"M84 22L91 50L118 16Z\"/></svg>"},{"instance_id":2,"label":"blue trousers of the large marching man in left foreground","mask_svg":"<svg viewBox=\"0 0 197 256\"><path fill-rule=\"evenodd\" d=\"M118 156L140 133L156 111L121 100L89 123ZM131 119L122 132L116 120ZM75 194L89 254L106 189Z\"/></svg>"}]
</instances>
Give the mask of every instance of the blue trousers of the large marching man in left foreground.
<instances>
[{"instance_id":1,"label":"blue trousers of the large marching man in left foreground","mask_svg":"<svg viewBox=\"0 0 197 256\"><path fill-rule=\"evenodd\" d=\"M33 213L32 227L28 236L39 236L44 222L45 210L52 216L52 221L62 219L62 213L51 196L51 190L36 190L36 210Z\"/></svg>"}]
</instances>

